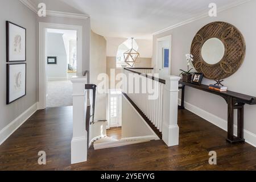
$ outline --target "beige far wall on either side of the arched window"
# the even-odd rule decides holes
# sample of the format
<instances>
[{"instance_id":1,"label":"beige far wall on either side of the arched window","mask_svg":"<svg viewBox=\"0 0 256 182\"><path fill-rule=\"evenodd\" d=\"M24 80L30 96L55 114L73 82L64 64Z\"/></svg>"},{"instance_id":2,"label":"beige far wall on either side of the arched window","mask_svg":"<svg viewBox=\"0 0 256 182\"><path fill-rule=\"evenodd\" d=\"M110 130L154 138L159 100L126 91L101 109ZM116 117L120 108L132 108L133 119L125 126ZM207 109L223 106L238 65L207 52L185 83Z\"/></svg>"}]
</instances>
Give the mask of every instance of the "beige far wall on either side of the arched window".
<instances>
[{"instance_id":1,"label":"beige far wall on either side of the arched window","mask_svg":"<svg viewBox=\"0 0 256 182\"><path fill-rule=\"evenodd\" d=\"M151 68L151 58L145 58L145 57L141 57L138 59L138 62L135 63L134 67L135 68ZM115 72L115 76L117 76L119 73L122 73L122 69L121 68L117 68L117 61L116 61L116 57L106 57L106 73L109 76L109 88L113 89L113 86L110 85L110 80L112 79L110 71L114 70ZM115 77L114 76L114 77ZM117 84L117 81L116 81ZM119 89L119 88L117 88Z\"/></svg>"}]
</instances>

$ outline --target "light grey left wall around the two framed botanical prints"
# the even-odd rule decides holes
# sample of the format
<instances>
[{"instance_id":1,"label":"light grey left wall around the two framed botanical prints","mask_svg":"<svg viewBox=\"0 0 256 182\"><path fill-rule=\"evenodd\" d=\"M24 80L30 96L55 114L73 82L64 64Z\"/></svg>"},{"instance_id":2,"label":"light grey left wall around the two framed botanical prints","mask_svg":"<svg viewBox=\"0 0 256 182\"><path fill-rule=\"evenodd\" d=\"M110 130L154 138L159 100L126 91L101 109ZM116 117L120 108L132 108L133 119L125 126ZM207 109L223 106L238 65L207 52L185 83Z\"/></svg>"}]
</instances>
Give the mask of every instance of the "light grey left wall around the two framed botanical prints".
<instances>
[{"instance_id":1,"label":"light grey left wall around the two framed botanical prints","mask_svg":"<svg viewBox=\"0 0 256 182\"><path fill-rule=\"evenodd\" d=\"M27 29L27 96L20 98L10 105L6 105L6 20ZM4 127L38 102L38 36L36 30L36 14L24 6L20 1L1 1L0 22L1 134L1 130Z\"/></svg>"}]
</instances>

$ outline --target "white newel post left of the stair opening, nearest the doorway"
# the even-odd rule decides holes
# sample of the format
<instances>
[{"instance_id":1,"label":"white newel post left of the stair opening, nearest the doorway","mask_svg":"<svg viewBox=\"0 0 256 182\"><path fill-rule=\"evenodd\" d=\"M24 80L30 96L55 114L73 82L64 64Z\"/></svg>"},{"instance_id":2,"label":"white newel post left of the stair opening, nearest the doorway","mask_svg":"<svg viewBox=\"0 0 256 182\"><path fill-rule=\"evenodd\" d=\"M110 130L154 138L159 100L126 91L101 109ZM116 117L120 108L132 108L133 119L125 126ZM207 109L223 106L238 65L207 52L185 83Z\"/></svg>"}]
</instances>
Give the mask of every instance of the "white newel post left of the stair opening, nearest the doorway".
<instances>
[{"instance_id":1,"label":"white newel post left of the stair opening, nearest the doorway","mask_svg":"<svg viewBox=\"0 0 256 182\"><path fill-rule=\"evenodd\" d=\"M73 138L71 142L71 163L87 161L88 138L85 129L86 77L73 77Z\"/></svg>"}]
</instances>

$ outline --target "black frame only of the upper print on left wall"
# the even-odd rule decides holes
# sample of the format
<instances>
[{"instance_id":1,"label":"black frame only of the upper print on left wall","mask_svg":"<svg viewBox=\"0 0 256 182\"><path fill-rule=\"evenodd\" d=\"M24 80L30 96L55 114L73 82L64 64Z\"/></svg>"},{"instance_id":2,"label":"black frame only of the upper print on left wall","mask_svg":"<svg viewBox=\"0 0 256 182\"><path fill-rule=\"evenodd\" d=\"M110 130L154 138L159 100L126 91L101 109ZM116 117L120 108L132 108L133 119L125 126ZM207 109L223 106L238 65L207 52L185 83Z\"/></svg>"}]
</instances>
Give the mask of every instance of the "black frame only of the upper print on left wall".
<instances>
[{"instance_id":1,"label":"black frame only of the upper print on left wall","mask_svg":"<svg viewBox=\"0 0 256 182\"><path fill-rule=\"evenodd\" d=\"M10 24L13 24L16 27L22 28L25 31L25 59L24 60L11 60L10 59ZM18 24L6 21L6 61L10 62L24 62L27 61L27 29L19 26Z\"/></svg>"}]
</instances>

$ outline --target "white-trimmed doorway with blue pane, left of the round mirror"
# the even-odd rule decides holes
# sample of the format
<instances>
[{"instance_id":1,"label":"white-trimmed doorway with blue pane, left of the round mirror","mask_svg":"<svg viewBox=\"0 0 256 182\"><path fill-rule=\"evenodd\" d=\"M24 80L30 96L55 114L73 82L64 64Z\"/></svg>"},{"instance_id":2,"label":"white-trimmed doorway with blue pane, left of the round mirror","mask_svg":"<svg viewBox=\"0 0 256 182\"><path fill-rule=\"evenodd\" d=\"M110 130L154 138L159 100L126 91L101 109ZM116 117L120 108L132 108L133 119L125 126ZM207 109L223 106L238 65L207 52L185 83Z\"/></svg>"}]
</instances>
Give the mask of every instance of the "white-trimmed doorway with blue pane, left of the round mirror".
<instances>
[{"instance_id":1,"label":"white-trimmed doorway with blue pane, left of the round mirror","mask_svg":"<svg viewBox=\"0 0 256 182\"><path fill-rule=\"evenodd\" d=\"M171 35L157 39L156 71L158 71L160 78L171 75L171 42Z\"/></svg>"}]
</instances>

